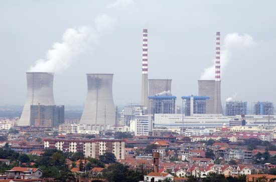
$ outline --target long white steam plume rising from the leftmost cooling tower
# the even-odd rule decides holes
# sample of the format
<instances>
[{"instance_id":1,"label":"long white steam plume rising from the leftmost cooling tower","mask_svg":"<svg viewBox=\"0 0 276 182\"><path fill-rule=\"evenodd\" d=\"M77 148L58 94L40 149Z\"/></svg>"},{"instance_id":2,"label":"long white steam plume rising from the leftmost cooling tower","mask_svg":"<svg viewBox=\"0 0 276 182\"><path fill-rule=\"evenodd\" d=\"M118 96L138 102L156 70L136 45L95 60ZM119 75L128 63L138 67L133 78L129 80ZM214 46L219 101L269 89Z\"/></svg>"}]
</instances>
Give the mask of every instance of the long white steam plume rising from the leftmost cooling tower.
<instances>
[{"instance_id":1,"label":"long white steam plume rising from the leftmost cooling tower","mask_svg":"<svg viewBox=\"0 0 276 182\"><path fill-rule=\"evenodd\" d=\"M131 3L132 0L116 0L109 8L126 7ZM90 26L68 28L62 35L62 41L53 43L45 59L38 59L28 71L58 72L68 68L73 61L76 61L79 54L97 42L102 32L112 29L114 22L114 18L102 13L95 17L94 28Z\"/></svg>"}]
</instances>

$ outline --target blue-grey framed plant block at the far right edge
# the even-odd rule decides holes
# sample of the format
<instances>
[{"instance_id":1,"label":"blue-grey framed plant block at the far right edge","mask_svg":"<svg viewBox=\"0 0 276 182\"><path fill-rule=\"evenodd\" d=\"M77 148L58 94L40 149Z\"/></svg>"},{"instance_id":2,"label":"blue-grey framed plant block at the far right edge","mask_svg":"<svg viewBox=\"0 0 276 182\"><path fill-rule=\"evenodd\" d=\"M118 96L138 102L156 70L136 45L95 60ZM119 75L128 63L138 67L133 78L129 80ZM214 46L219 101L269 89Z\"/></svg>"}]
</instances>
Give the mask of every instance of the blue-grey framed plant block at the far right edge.
<instances>
[{"instance_id":1,"label":"blue-grey framed plant block at the far right edge","mask_svg":"<svg viewBox=\"0 0 276 182\"><path fill-rule=\"evenodd\" d=\"M255 115L273 115L274 106L272 102L269 101L258 101L254 103L254 114Z\"/></svg>"}]
</instances>

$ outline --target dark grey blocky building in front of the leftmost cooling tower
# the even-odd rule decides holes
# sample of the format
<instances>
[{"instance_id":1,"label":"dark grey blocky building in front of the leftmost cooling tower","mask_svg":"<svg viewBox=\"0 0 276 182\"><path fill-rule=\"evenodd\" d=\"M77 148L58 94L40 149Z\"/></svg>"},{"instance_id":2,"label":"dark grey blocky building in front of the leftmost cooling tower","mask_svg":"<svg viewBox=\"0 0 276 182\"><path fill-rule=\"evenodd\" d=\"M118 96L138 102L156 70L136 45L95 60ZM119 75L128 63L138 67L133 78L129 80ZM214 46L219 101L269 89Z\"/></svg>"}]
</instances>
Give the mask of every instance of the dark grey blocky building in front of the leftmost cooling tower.
<instances>
[{"instance_id":1,"label":"dark grey blocky building in front of the leftmost cooling tower","mask_svg":"<svg viewBox=\"0 0 276 182\"><path fill-rule=\"evenodd\" d=\"M55 127L64 123L64 105L31 105L30 125Z\"/></svg>"}]
</instances>

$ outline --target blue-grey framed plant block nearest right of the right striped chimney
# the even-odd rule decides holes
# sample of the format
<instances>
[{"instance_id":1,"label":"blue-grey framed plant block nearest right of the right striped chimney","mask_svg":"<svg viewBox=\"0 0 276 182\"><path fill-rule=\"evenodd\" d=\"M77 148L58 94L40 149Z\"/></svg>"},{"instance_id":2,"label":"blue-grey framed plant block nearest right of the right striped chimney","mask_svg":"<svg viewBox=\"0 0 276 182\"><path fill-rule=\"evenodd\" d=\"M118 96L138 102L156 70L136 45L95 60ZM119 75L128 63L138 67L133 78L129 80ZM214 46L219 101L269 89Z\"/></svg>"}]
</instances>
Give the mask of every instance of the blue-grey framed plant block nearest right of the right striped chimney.
<instances>
[{"instance_id":1,"label":"blue-grey framed plant block nearest right of the right striped chimney","mask_svg":"<svg viewBox=\"0 0 276 182\"><path fill-rule=\"evenodd\" d=\"M225 115L245 115L247 114L246 101L227 101Z\"/></svg>"}]
</instances>

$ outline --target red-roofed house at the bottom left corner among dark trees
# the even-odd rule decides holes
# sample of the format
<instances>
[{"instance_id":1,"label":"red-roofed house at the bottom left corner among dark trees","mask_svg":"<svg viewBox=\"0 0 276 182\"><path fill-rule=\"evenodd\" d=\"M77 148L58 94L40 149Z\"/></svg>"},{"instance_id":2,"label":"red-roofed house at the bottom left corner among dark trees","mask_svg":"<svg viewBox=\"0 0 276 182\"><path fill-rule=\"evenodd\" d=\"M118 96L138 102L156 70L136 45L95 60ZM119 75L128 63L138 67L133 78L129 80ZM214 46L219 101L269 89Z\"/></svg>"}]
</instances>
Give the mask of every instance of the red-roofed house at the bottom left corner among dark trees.
<instances>
[{"instance_id":1,"label":"red-roofed house at the bottom left corner among dark trees","mask_svg":"<svg viewBox=\"0 0 276 182\"><path fill-rule=\"evenodd\" d=\"M39 168L31 168L31 167L14 167L11 170L5 170L5 174L8 177L15 177L20 175L29 175L32 178L39 178L42 176L43 171Z\"/></svg>"}]
</instances>

